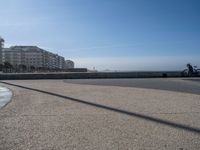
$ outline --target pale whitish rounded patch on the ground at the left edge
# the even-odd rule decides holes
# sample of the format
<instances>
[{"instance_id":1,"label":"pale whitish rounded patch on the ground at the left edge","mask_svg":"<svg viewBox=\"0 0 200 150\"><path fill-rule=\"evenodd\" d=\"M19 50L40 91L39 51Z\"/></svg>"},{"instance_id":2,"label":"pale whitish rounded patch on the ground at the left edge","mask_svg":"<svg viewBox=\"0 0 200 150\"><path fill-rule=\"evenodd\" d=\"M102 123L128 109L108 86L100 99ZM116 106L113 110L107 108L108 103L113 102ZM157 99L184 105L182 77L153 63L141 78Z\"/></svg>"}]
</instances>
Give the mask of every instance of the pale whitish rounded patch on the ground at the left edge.
<instances>
[{"instance_id":1,"label":"pale whitish rounded patch on the ground at the left edge","mask_svg":"<svg viewBox=\"0 0 200 150\"><path fill-rule=\"evenodd\" d=\"M12 92L5 88L0 86L0 108L5 106L12 97Z\"/></svg>"}]
</instances>

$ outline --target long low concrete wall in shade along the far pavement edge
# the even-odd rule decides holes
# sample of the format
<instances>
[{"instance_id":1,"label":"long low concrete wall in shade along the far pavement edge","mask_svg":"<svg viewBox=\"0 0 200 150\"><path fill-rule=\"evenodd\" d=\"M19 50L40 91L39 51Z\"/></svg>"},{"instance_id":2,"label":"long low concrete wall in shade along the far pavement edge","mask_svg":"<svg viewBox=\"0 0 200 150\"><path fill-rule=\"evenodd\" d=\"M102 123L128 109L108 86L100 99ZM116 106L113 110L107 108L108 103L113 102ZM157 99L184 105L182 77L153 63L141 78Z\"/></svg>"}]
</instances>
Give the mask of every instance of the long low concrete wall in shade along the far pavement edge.
<instances>
[{"instance_id":1,"label":"long low concrete wall in shade along the far pavement edge","mask_svg":"<svg viewBox=\"0 0 200 150\"><path fill-rule=\"evenodd\" d=\"M180 71L168 72L97 72L97 73L9 73L0 74L0 80L23 79L89 79L89 78L158 78L182 77Z\"/></svg>"}]
</instances>

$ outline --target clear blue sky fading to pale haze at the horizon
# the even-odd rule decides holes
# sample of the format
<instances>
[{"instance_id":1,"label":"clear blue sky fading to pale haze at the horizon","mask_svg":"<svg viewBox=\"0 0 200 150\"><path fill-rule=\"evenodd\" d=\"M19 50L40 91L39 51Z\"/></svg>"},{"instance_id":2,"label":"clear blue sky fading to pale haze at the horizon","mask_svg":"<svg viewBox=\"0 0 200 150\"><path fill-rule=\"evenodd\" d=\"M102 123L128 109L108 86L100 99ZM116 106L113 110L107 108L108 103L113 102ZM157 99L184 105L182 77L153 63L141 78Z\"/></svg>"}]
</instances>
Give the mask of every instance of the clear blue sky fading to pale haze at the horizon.
<instances>
[{"instance_id":1,"label":"clear blue sky fading to pale haze at the horizon","mask_svg":"<svg viewBox=\"0 0 200 150\"><path fill-rule=\"evenodd\" d=\"M0 36L76 67L200 68L200 0L0 0Z\"/></svg>"}]
</instances>

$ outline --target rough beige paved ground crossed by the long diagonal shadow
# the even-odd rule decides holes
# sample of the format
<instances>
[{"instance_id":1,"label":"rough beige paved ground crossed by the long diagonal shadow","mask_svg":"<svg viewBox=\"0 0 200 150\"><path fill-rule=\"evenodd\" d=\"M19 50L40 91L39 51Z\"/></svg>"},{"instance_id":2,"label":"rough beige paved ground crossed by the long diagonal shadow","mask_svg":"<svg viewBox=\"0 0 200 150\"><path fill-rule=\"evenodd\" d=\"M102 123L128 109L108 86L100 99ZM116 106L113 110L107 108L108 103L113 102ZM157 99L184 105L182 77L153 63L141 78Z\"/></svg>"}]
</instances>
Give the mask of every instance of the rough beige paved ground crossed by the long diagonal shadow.
<instances>
[{"instance_id":1,"label":"rough beige paved ground crossed by the long diagonal shadow","mask_svg":"<svg viewBox=\"0 0 200 150\"><path fill-rule=\"evenodd\" d=\"M6 82L0 86L14 95L0 109L2 150L200 149L199 94L63 80Z\"/></svg>"}]
</instances>

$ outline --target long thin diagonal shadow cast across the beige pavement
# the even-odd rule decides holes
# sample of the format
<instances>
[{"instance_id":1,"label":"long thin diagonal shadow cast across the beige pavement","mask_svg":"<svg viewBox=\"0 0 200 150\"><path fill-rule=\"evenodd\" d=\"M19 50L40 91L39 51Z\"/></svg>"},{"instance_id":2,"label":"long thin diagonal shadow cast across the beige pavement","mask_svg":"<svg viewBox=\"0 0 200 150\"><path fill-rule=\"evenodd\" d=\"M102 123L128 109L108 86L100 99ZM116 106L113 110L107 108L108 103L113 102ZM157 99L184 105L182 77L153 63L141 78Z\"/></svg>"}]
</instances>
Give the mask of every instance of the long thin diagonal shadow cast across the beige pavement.
<instances>
[{"instance_id":1,"label":"long thin diagonal shadow cast across the beige pavement","mask_svg":"<svg viewBox=\"0 0 200 150\"><path fill-rule=\"evenodd\" d=\"M25 86L7 83L7 82L3 82L3 81L0 81L0 82L7 84L7 85L16 86L16 87L20 87L20 88L24 88L24 89L28 89L28 90L32 90L32 91L37 91L37 92L40 92L40 93L45 93L45 94L57 96L57 97L60 97L60 98L68 99L70 101L86 104L86 105L101 108L101 109L106 109L106 110L109 110L109 111L121 113L121 114L128 115L128 116L131 116L131 117L137 117L137 118L144 119L144 120L147 120L147 121L151 121L151 122L154 122L154 123L159 123L159 124L167 125L167 126L170 126L170 127L173 127L173 128L182 129L182 130L186 130L186 131L193 132L193 133L196 133L196 134L200 134L200 128L191 127L191 126L179 124L179 123L176 123L176 122L171 122L171 121L163 120L163 119L160 119L160 118L155 118L155 117L143 115L143 114L139 114L139 113L136 113L136 112L130 112L130 111L126 111L126 110L122 110L122 109L118 109L118 108L114 108L114 107L110 107L110 106L106 106L106 105L102 105L102 104L87 102L87 101L76 99L76 98L73 98L73 97L68 97L68 96L64 96L64 95L60 95L60 94L56 94L56 93L52 93L52 92L47 92L47 91L43 91L43 90L39 90L39 89L35 89L35 88L25 87Z\"/></svg>"}]
</instances>

